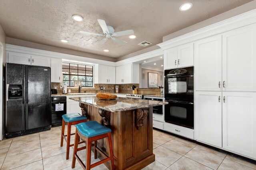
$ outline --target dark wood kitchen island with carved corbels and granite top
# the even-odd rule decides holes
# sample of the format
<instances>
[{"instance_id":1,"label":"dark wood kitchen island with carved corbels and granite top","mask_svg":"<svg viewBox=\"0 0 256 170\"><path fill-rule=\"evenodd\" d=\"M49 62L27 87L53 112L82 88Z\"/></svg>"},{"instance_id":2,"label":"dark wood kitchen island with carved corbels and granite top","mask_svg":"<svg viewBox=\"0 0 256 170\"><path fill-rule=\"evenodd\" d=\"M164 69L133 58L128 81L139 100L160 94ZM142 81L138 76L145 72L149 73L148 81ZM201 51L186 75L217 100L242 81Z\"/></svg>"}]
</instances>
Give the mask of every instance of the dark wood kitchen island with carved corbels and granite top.
<instances>
[{"instance_id":1,"label":"dark wood kitchen island with carved corbels and granite top","mask_svg":"<svg viewBox=\"0 0 256 170\"><path fill-rule=\"evenodd\" d=\"M96 97L70 98L79 103L88 121L98 121L112 130L114 164L116 170L139 170L155 161L153 154L152 107L167 102L134 98L99 100ZM102 152L108 154L106 139L97 141ZM98 154L99 158L100 154ZM105 165L110 168L108 162Z\"/></svg>"}]
</instances>

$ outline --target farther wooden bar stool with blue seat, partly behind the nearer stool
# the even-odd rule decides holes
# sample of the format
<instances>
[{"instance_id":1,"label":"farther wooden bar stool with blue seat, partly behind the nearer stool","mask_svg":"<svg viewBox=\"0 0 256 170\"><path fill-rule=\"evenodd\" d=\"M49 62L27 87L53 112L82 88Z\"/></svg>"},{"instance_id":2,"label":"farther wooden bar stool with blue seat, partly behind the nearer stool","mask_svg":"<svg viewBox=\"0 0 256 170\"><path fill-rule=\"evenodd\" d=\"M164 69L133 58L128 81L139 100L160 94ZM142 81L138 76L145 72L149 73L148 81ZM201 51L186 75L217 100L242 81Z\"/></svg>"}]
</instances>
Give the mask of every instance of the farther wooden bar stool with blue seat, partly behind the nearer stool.
<instances>
[{"instance_id":1,"label":"farther wooden bar stool with blue seat, partly behind the nearer stool","mask_svg":"<svg viewBox=\"0 0 256 170\"><path fill-rule=\"evenodd\" d=\"M75 133L71 134L71 126L76 125L78 123L86 122L86 121L87 121L87 117L86 116L81 116L79 113L67 113L65 115L62 115L62 129L61 129L60 147L63 146L63 139L65 139L65 141L67 142L66 159L69 158L69 148L74 146L74 144L70 145L70 137L71 137L71 135L75 135ZM67 135L64 135L65 125L68 125ZM78 139L78 142L79 141L80 141L80 139ZM84 141L79 142L79 144L80 143L84 143Z\"/></svg>"}]
</instances>

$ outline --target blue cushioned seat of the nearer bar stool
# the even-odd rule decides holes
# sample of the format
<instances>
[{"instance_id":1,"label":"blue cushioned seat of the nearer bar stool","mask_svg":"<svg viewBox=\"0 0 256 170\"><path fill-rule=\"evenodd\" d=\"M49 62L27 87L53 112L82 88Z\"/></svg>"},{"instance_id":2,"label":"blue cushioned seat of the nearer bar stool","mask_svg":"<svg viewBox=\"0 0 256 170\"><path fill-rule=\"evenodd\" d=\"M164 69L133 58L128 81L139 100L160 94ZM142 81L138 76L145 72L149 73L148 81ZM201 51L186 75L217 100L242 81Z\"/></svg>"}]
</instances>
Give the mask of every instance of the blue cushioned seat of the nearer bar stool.
<instances>
[{"instance_id":1,"label":"blue cushioned seat of the nearer bar stool","mask_svg":"<svg viewBox=\"0 0 256 170\"><path fill-rule=\"evenodd\" d=\"M75 126L76 126L76 129L82 135L88 138L111 132L111 129L109 129L108 127L102 126L97 121L87 121L87 122L79 123Z\"/></svg>"}]
</instances>

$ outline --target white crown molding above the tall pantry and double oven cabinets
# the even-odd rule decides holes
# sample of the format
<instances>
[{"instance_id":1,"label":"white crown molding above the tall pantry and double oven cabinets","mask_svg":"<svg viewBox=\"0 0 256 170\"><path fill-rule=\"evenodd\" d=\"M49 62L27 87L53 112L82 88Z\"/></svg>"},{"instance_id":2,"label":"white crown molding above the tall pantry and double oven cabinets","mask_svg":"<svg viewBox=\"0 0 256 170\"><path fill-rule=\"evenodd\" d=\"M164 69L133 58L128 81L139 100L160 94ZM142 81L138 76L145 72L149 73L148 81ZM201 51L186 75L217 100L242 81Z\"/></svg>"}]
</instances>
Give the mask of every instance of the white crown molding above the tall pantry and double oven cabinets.
<instances>
[{"instance_id":1,"label":"white crown molding above the tall pantry and double oven cabinets","mask_svg":"<svg viewBox=\"0 0 256 170\"><path fill-rule=\"evenodd\" d=\"M228 18L226 20L214 23L212 25L197 29L190 33L186 33L184 35L170 39L163 43L159 43L157 45L161 47L161 49L166 50L172 47L176 47L178 45L190 43L199 39L224 33L226 31L230 31L232 29L236 29L239 27L253 24L253 23L256 23L256 9Z\"/></svg>"}]
</instances>

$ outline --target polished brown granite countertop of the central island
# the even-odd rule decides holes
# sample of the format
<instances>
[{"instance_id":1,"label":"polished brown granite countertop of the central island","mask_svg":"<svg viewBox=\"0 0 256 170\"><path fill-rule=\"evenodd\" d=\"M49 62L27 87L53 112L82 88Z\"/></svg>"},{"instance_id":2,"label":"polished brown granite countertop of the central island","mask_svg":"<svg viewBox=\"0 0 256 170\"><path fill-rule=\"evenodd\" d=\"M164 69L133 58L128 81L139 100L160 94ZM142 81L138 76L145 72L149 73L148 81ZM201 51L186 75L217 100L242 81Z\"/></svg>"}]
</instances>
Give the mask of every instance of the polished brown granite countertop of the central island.
<instances>
[{"instance_id":1,"label":"polished brown granite countertop of the central island","mask_svg":"<svg viewBox=\"0 0 256 170\"><path fill-rule=\"evenodd\" d=\"M118 112L140 108L148 108L152 106L160 106L168 104L168 102L142 100L134 98L116 98L114 100L100 100L96 97L73 97L71 100L98 107L106 111Z\"/></svg>"}]
</instances>

